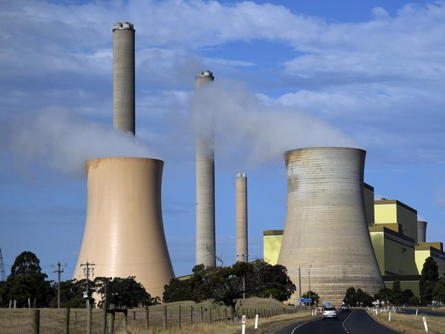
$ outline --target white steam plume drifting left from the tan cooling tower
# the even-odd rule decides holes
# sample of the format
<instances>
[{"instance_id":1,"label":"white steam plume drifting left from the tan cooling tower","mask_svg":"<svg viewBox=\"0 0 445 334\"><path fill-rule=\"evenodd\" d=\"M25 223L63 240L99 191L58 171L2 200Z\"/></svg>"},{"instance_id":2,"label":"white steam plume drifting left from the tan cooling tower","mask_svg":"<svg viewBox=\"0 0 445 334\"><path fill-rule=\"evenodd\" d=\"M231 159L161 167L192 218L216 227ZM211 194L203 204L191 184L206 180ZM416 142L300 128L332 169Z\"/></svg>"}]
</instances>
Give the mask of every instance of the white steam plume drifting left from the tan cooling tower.
<instances>
[{"instance_id":1,"label":"white steam plume drifting left from the tan cooling tower","mask_svg":"<svg viewBox=\"0 0 445 334\"><path fill-rule=\"evenodd\" d=\"M83 175L91 158L150 157L153 153L133 134L82 121L64 108L52 107L16 120L10 150L25 162L38 161L67 174Z\"/></svg>"}]
</instances>

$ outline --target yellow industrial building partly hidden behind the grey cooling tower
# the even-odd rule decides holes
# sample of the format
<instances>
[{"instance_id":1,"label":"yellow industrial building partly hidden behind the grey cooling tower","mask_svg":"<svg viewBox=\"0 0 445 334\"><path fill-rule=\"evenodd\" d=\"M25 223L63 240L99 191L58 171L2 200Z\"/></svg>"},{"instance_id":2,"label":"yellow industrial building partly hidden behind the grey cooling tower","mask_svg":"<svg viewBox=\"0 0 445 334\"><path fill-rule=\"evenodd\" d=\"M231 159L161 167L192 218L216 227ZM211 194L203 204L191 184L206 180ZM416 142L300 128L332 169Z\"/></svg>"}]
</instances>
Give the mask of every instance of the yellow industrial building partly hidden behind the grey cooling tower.
<instances>
[{"instance_id":1,"label":"yellow industrial building partly hidden behind the grey cooling tower","mask_svg":"<svg viewBox=\"0 0 445 334\"><path fill-rule=\"evenodd\" d=\"M419 296L420 272L427 257L433 257L440 276L444 275L442 242L425 242L425 231L418 236L418 224L426 228L426 223L418 223L417 211L398 200L374 200L374 188L366 183L364 200L372 246L386 287L391 288L398 279L402 289ZM284 230L263 231L263 258L272 265L278 261L283 234Z\"/></svg>"}]
</instances>

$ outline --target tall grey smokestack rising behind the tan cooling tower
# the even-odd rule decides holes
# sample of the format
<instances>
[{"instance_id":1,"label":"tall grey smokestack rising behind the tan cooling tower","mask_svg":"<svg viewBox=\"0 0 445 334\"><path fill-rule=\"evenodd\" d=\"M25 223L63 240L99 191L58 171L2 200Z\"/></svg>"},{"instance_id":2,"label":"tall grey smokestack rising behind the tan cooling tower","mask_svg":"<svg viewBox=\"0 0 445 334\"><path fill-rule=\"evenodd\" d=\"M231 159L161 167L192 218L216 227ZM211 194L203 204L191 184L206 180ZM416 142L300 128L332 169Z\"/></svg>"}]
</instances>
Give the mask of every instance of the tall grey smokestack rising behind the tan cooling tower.
<instances>
[{"instance_id":1,"label":"tall grey smokestack rising behind the tan cooling tower","mask_svg":"<svg viewBox=\"0 0 445 334\"><path fill-rule=\"evenodd\" d=\"M113 27L113 127L135 134L134 28L132 23Z\"/></svg>"}]
</instances>

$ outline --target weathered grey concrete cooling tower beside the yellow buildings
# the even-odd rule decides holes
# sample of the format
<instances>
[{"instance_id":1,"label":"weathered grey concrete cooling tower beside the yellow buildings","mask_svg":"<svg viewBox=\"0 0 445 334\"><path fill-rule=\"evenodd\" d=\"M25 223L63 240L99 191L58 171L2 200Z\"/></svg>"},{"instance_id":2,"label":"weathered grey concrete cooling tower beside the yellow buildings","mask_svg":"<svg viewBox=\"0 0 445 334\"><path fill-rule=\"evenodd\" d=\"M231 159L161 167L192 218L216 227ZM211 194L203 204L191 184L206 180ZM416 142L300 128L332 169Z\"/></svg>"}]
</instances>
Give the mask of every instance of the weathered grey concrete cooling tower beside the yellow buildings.
<instances>
[{"instance_id":1,"label":"weathered grey concrete cooling tower beside the yellow buildings","mask_svg":"<svg viewBox=\"0 0 445 334\"><path fill-rule=\"evenodd\" d=\"M312 265L311 290L337 305L348 287L371 295L384 287L365 220L365 153L346 147L285 153L287 216L278 264L303 293Z\"/></svg>"}]
</instances>

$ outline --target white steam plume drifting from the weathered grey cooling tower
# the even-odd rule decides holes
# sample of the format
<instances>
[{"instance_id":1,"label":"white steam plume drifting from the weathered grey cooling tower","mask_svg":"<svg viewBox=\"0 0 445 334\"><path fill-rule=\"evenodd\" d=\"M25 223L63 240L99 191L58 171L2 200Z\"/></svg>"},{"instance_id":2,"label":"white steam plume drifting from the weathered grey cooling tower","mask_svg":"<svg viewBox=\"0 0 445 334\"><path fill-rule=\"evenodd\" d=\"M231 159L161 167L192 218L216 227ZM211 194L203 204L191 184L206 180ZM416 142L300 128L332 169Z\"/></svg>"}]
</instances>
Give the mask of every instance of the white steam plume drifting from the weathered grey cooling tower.
<instances>
[{"instance_id":1,"label":"white steam plume drifting from the weathered grey cooling tower","mask_svg":"<svg viewBox=\"0 0 445 334\"><path fill-rule=\"evenodd\" d=\"M285 151L300 147L357 147L326 121L300 110L268 105L236 82L219 80L201 86L191 108L197 136L208 135L213 123L217 153L230 152L250 163L282 158Z\"/></svg>"}]
</instances>

